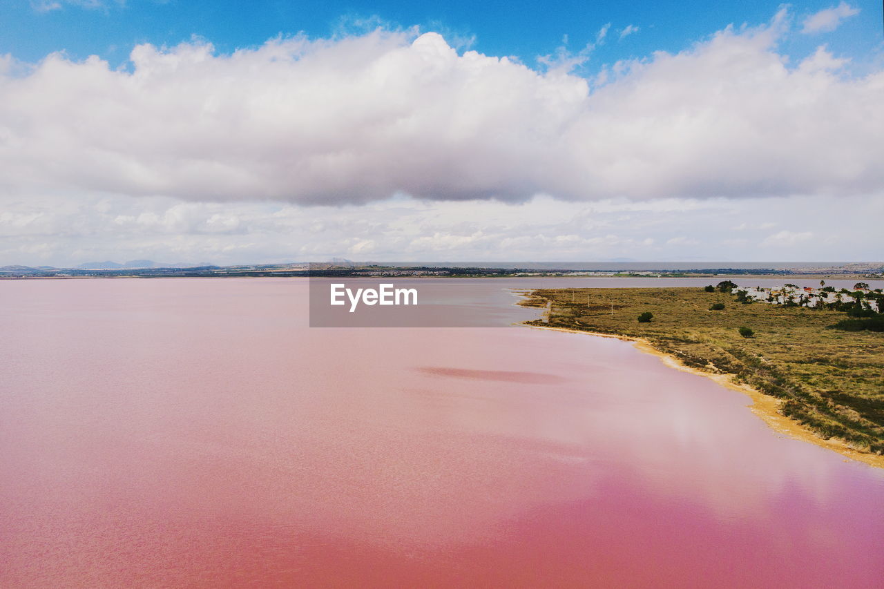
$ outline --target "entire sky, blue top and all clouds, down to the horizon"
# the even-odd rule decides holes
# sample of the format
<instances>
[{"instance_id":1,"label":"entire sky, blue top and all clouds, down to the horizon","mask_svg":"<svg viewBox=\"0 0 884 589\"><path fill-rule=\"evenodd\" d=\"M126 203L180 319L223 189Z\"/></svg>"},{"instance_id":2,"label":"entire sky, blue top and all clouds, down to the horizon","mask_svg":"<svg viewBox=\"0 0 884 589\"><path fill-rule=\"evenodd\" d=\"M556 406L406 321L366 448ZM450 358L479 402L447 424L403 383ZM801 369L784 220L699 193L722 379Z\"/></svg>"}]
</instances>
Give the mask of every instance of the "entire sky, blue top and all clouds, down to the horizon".
<instances>
[{"instance_id":1,"label":"entire sky, blue top and all clouds, down to the horizon","mask_svg":"<svg viewBox=\"0 0 884 589\"><path fill-rule=\"evenodd\" d=\"M0 3L0 265L884 252L877 2Z\"/></svg>"}]
</instances>

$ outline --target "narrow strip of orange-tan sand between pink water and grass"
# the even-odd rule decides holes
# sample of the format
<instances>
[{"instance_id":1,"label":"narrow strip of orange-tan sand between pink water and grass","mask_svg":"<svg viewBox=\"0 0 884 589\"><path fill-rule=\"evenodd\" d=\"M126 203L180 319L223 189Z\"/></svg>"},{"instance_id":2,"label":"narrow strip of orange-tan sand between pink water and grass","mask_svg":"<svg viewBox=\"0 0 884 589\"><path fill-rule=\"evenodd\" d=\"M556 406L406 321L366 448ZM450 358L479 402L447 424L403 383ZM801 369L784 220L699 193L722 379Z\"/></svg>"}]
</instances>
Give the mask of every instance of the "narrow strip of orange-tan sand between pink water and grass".
<instances>
[{"instance_id":1,"label":"narrow strip of orange-tan sand between pink water and grass","mask_svg":"<svg viewBox=\"0 0 884 589\"><path fill-rule=\"evenodd\" d=\"M740 393L748 396L752 403L748 407L752 410L752 412L761 417L767 425L769 425L775 432L779 432L783 435L787 435L791 438L795 438L796 440L803 440L810 442L812 444L816 444L820 447L825 447L829 450L834 450L840 455L847 456L852 460L856 460L860 463L865 463L870 466L875 466L878 468L884 469L884 455L876 455L869 454L867 452L859 452L858 450L853 449L848 446L841 440L829 439L824 440L820 438L816 433L811 430L805 428L803 425L799 424L793 419L789 419L780 413L780 403L781 401L775 397L772 397L768 394L761 393L755 388L751 386L744 385L742 383L736 383L733 380L732 374L722 374L722 373L714 373L714 372L706 372L700 371L696 368L692 368L690 366L684 365L678 358L675 356L671 356L665 352L661 352L659 349L654 348L653 344L642 338L632 338L625 335L615 335L612 333L598 333L598 332L587 332L578 329L567 329L565 327L546 327L544 325L526 325L527 327L533 327L535 329L549 329L557 332L568 332L568 333L585 333L588 335L595 335L597 337L602 338L613 338L616 340L624 340L631 341L633 345L640 349L641 351L652 354L660 358L660 360L674 368L676 370L690 372L691 374L698 374L707 379L713 379L721 386L726 386L729 389L739 391Z\"/></svg>"}]
</instances>

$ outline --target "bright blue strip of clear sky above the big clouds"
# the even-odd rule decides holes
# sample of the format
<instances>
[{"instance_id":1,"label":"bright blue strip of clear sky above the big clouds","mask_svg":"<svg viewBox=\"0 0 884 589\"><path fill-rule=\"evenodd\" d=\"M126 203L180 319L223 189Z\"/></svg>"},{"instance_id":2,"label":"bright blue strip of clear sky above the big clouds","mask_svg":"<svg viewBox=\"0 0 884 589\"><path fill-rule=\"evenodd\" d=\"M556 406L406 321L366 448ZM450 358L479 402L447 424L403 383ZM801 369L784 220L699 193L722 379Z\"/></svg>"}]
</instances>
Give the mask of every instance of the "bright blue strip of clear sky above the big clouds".
<instances>
[{"instance_id":1,"label":"bright blue strip of clear sky above the big clouds","mask_svg":"<svg viewBox=\"0 0 884 589\"><path fill-rule=\"evenodd\" d=\"M795 19L837 3L792 4ZM825 41L834 53L864 63L880 51L881 5L869 0L850 3L858 18L845 19ZM516 56L533 65L538 56L563 44L579 50L594 42L602 27L609 40L592 57L595 65L656 50L677 52L728 24L764 22L777 10L775 2L526 2L475 3L451 1L339 2L337 0L3 0L0 53L27 62L64 50L74 59L97 55L118 65L139 43L177 45L198 35L217 50L230 52L255 47L278 34L303 32L328 37L365 27L420 27L438 31L450 42L469 42L469 49L496 56ZM247 7L248 8L244 8ZM634 34L620 38L626 27ZM814 35L816 36L816 35ZM785 43L786 53L812 51L819 38L796 37Z\"/></svg>"}]
</instances>

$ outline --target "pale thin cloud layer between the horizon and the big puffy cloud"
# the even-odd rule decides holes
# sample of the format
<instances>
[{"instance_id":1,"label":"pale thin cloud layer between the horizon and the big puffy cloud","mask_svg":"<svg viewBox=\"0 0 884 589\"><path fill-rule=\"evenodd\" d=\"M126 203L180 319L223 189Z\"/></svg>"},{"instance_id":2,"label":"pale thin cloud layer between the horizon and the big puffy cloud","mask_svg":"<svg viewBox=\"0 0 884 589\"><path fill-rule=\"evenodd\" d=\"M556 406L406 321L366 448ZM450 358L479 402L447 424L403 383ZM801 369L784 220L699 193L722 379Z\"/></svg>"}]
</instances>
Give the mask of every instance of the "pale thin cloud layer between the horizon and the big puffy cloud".
<instances>
[{"instance_id":1,"label":"pale thin cloud layer between the horizon and the big puffy cloud","mask_svg":"<svg viewBox=\"0 0 884 589\"><path fill-rule=\"evenodd\" d=\"M362 205L182 203L155 196L0 196L0 265L354 260L781 261L880 256L884 192L788 198ZM765 223L759 223L765 218ZM735 226L735 224L739 224ZM741 228L740 226L744 226ZM788 231L773 233L776 224ZM775 231L775 230L774 230ZM771 235L770 233L773 233Z\"/></svg>"}]
</instances>

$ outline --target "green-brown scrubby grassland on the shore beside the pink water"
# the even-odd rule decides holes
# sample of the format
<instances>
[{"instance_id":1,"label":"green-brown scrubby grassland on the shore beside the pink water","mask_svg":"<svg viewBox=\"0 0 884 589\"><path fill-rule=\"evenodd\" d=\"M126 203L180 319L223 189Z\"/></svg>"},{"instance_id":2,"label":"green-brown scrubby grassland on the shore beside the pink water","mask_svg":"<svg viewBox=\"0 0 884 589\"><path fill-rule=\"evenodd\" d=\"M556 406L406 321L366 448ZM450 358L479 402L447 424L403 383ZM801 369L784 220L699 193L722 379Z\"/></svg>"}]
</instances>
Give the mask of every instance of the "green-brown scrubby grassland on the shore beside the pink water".
<instances>
[{"instance_id":1,"label":"green-brown scrubby grassland on the shore beside the pink water","mask_svg":"<svg viewBox=\"0 0 884 589\"><path fill-rule=\"evenodd\" d=\"M717 302L724 309L710 310ZM530 325L647 340L692 368L733 374L781 399L783 415L824 439L884 454L884 333L827 328L842 312L743 304L689 287L539 289L523 304L549 309L548 321ZM652 321L639 323L645 311ZM741 336L741 326L754 336Z\"/></svg>"}]
</instances>

